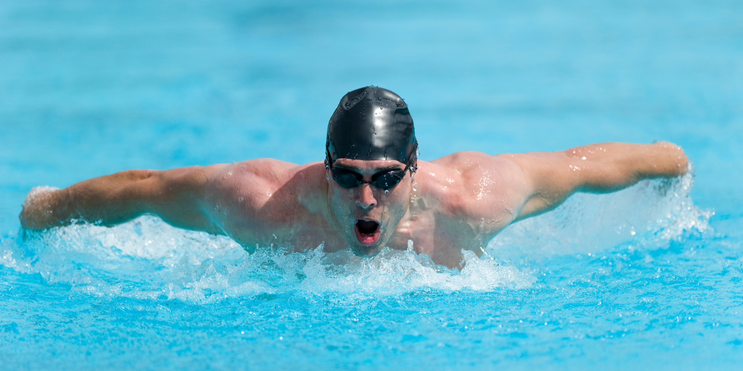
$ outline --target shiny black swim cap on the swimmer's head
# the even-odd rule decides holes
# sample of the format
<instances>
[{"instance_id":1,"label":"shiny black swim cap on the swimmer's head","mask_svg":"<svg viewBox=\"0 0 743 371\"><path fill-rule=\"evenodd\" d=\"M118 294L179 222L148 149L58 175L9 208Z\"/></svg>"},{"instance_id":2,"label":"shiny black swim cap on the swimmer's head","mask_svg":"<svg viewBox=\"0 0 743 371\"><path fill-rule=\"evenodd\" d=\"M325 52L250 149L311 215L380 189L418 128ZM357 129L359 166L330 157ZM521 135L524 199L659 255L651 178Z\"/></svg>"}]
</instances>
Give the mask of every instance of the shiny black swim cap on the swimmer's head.
<instances>
[{"instance_id":1,"label":"shiny black swim cap on the swimmer's head","mask_svg":"<svg viewBox=\"0 0 743 371\"><path fill-rule=\"evenodd\" d=\"M415 167L413 118L398 94L367 86L340 99L328 122L325 167L338 159L398 160Z\"/></svg>"}]
</instances>

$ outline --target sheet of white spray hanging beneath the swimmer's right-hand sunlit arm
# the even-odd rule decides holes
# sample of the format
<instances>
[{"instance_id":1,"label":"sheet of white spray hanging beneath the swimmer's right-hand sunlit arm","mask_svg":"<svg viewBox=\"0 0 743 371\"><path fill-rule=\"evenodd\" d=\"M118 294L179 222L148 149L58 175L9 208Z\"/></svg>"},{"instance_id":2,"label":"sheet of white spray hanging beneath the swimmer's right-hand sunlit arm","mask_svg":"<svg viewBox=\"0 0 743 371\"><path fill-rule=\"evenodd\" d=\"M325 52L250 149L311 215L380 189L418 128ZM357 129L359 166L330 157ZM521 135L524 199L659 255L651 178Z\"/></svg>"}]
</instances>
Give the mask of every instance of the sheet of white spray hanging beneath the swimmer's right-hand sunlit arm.
<instances>
[{"instance_id":1,"label":"sheet of white spray hanging beneath the swimmer's right-hand sunlit arm","mask_svg":"<svg viewBox=\"0 0 743 371\"><path fill-rule=\"evenodd\" d=\"M688 233L710 233L713 211L694 206L692 167L683 177L643 180L611 194L574 194L554 211L504 229L487 246L502 260L602 252L622 243L668 246Z\"/></svg>"}]
</instances>

